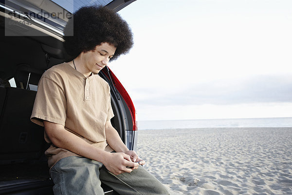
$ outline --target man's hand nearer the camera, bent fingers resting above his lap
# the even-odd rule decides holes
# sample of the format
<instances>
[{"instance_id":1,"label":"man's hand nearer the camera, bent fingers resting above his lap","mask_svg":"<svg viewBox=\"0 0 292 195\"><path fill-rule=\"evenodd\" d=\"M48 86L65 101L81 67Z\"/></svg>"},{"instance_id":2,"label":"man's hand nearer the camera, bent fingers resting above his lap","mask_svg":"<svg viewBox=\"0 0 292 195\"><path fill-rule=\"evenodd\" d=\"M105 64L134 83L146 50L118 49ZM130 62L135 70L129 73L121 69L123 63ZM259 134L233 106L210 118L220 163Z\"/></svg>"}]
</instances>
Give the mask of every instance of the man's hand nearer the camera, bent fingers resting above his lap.
<instances>
[{"instance_id":1,"label":"man's hand nearer the camera, bent fingers resting above his lap","mask_svg":"<svg viewBox=\"0 0 292 195\"><path fill-rule=\"evenodd\" d=\"M130 156L125 153L109 153L105 156L103 164L114 175L131 173L133 169L137 169L139 166L138 163L132 162Z\"/></svg>"}]
</instances>

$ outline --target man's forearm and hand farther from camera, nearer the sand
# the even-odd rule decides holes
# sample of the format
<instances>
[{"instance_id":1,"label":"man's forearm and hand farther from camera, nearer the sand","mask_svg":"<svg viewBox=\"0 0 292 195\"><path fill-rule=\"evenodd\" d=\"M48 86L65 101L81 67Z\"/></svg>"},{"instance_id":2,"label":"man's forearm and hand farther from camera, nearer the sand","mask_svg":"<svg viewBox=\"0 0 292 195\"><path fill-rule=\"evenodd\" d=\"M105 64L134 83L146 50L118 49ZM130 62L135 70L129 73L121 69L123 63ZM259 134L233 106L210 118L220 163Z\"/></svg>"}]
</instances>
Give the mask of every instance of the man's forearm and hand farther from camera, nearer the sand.
<instances>
[{"instance_id":1,"label":"man's forearm and hand farther from camera, nearer the sand","mask_svg":"<svg viewBox=\"0 0 292 195\"><path fill-rule=\"evenodd\" d=\"M139 164L141 164L141 165L145 164L145 161L142 160L141 158L139 158L139 156L136 154L135 151L128 150L127 146L122 141L118 132L111 125L110 120L106 122L105 130L106 130L107 142L115 152L123 152L123 153L130 156L131 161L139 162ZM137 169L137 168L138 168L137 165L133 167L133 169Z\"/></svg>"}]
</instances>

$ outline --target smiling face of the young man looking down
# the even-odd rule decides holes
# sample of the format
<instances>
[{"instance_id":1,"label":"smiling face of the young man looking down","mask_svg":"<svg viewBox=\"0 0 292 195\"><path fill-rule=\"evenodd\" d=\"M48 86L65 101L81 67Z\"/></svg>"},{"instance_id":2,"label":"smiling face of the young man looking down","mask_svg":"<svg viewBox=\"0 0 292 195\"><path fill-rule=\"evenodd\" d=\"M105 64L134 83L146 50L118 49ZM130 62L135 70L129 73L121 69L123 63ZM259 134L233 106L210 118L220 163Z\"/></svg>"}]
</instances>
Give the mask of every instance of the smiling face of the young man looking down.
<instances>
[{"instance_id":1,"label":"smiling face of the young man looking down","mask_svg":"<svg viewBox=\"0 0 292 195\"><path fill-rule=\"evenodd\" d=\"M99 73L113 57L116 47L109 43L101 43L95 47L94 51L83 53L85 59L85 68L95 74Z\"/></svg>"}]
</instances>

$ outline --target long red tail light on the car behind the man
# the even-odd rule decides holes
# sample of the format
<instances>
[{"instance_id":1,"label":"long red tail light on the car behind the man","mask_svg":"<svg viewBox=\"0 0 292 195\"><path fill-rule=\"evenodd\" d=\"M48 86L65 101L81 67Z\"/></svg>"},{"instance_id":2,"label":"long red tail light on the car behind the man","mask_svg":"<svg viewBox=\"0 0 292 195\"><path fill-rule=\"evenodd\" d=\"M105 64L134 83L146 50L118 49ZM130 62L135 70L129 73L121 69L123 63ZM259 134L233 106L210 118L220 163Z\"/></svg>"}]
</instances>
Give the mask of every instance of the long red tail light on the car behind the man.
<instances>
[{"instance_id":1,"label":"long red tail light on the car behind the man","mask_svg":"<svg viewBox=\"0 0 292 195\"><path fill-rule=\"evenodd\" d=\"M114 87L119 91L119 93L121 94L121 96L123 97L123 99L125 100L126 104L128 105L128 108L131 112L131 116L132 116L132 122L133 122L133 131L137 131L138 127L136 125L136 110L133 104L132 99L130 98L128 92L126 91L126 89L124 88L124 86L122 85L122 83L119 81L119 79L111 72L110 68L109 68L109 73L110 73L110 77L113 81ZM106 69L103 69L103 72L105 73L105 75L108 77L108 74L106 74Z\"/></svg>"}]
</instances>

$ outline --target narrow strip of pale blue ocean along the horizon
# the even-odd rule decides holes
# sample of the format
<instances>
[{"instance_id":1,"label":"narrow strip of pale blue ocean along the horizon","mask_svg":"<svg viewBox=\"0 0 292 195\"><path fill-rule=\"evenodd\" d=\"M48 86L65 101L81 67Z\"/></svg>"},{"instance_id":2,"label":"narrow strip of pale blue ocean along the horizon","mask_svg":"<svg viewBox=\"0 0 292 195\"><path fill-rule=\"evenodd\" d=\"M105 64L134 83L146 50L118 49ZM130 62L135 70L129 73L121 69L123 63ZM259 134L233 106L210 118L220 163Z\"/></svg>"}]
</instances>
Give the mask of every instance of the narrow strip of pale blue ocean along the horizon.
<instances>
[{"instance_id":1,"label":"narrow strip of pale blue ocean along the horizon","mask_svg":"<svg viewBox=\"0 0 292 195\"><path fill-rule=\"evenodd\" d=\"M292 117L138 121L138 130L241 127L292 127Z\"/></svg>"}]
</instances>

